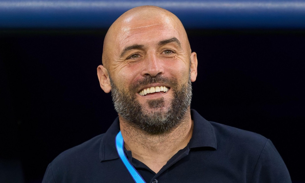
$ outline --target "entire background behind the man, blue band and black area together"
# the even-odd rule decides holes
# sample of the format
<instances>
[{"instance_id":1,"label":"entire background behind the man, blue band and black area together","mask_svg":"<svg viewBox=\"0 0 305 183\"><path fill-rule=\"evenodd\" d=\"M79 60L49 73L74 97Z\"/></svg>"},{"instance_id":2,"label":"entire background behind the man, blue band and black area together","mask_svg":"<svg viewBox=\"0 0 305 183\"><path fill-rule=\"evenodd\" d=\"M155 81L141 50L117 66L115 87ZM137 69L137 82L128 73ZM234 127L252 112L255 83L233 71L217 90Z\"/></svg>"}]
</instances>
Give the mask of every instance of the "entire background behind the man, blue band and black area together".
<instances>
[{"instance_id":1,"label":"entire background behind the man, blue band and black area together","mask_svg":"<svg viewBox=\"0 0 305 183\"><path fill-rule=\"evenodd\" d=\"M198 55L192 108L271 139L305 182L305 1L0 0L0 182L41 182L60 152L117 116L99 87L103 39L139 5L180 18Z\"/></svg>"}]
</instances>

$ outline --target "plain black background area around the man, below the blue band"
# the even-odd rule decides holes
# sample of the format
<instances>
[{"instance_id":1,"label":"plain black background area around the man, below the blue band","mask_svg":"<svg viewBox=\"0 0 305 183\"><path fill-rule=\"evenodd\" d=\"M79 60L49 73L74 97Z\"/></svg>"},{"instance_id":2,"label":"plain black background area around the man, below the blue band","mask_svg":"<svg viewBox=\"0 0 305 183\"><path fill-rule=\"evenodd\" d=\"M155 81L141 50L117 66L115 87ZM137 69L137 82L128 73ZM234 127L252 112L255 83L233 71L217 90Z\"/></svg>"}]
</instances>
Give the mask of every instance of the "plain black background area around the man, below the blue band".
<instances>
[{"instance_id":1,"label":"plain black background area around the man, below the blue band","mask_svg":"<svg viewBox=\"0 0 305 183\"><path fill-rule=\"evenodd\" d=\"M188 29L198 55L192 108L271 139L303 176L305 30ZM0 180L41 182L60 152L117 116L99 87L104 29L0 31Z\"/></svg>"}]
</instances>

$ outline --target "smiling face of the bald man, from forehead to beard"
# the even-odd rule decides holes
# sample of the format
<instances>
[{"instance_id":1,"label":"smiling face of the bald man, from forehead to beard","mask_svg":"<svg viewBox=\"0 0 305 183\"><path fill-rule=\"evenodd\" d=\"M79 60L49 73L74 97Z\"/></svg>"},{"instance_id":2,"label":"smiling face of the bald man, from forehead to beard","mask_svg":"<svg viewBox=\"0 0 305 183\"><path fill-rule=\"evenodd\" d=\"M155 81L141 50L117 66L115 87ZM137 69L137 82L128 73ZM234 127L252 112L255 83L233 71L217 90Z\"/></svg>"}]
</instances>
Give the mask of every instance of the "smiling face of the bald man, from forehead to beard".
<instances>
[{"instance_id":1,"label":"smiling face of the bald man, from forehead to beard","mask_svg":"<svg viewBox=\"0 0 305 183\"><path fill-rule=\"evenodd\" d=\"M117 30L107 51L117 112L151 134L172 130L192 95L186 35L166 16L129 17Z\"/></svg>"}]
</instances>

